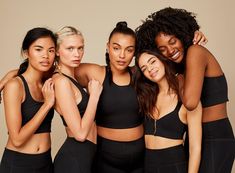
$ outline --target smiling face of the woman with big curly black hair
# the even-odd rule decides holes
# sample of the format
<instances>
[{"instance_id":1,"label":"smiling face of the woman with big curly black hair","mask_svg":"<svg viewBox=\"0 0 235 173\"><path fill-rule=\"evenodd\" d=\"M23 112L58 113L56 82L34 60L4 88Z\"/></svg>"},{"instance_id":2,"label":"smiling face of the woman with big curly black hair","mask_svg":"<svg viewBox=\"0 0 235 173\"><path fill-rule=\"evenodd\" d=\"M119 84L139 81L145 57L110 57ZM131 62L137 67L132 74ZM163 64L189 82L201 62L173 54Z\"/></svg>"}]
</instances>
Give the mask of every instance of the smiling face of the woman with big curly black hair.
<instances>
[{"instance_id":1,"label":"smiling face of the woman with big curly black hair","mask_svg":"<svg viewBox=\"0 0 235 173\"><path fill-rule=\"evenodd\" d=\"M183 60L183 45L174 35L167 35L161 32L156 36L155 44L160 52L171 61L180 63Z\"/></svg>"}]
</instances>

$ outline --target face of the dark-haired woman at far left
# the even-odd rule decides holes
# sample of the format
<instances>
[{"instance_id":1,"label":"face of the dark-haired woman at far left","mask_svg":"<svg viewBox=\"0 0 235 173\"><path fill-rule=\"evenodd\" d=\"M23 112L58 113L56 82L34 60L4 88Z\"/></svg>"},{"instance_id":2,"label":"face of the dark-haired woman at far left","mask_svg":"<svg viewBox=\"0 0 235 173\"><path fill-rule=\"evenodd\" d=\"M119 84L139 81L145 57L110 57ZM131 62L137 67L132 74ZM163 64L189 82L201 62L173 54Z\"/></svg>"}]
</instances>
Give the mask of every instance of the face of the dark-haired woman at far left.
<instances>
[{"instance_id":1,"label":"face of the dark-haired woman at far left","mask_svg":"<svg viewBox=\"0 0 235 173\"><path fill-rule=\"evenodd\" d=\"M42 72L48 71L55 58L55 44L50 37L39 38L24 52L29 65Z\"/></svg>"}]
</instances>

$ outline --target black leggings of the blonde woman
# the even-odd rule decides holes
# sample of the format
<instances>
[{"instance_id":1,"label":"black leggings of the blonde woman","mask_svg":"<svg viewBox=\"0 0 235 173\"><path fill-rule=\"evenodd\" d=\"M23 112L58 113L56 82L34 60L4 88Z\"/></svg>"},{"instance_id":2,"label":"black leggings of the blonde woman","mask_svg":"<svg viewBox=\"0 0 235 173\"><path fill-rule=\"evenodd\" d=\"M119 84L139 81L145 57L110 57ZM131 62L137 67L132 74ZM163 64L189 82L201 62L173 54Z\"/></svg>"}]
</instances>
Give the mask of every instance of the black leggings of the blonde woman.
<instances>
[{"instance_id":1,"label":"black leggings of the blonde woman","mask_svg":"<svg viewBox=\"0 0 235 173\"><path fill-rule=\"evenodd\" d=\"M54 160L55 173L91 173L96 144L67 138Z\"/></svg>"}]
</instances>

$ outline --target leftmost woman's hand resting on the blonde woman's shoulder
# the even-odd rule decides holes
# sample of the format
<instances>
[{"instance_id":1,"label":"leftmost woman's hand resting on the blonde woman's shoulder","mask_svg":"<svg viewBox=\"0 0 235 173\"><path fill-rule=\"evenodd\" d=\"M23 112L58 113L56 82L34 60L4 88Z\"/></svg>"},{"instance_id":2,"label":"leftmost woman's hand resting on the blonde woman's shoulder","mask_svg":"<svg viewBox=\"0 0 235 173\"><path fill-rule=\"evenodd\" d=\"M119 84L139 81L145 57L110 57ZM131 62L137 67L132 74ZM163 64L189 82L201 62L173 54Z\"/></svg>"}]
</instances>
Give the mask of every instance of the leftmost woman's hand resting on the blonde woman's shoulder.
<instances>
[{"instance_id":1,"label":"leftmost woman's hand resting on the blonde woman's shoulder","mask_svg":"<svg viewBox=\"0 0 235 173\"><path fill-rule=\"evenodd\" d=\"M52 107L55 103L55 91L54 83L51 78L45 81L42 87L42 95L44 97L44 103Z\"/></svg>"}]
</instances>

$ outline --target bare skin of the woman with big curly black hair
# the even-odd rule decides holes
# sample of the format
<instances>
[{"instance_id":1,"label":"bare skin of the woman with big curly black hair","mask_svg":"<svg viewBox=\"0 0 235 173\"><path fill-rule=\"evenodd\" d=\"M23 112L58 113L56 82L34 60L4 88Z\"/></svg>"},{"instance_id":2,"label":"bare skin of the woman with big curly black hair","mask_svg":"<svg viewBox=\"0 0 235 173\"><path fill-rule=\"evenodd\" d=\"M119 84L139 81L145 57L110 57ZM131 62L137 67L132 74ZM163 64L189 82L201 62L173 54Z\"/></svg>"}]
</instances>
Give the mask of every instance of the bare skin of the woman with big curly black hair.
<instances>
[{"instance_id":1,"label":"bare skin of the woman with big curly black hair","mask_svg":"<svg viewBox=\"0 0 235 173\"><path fill-rule=\"evenodd\" d=\"M186 59L184 83L181 97L187 109L193 110L201 97L204 77L223 75L223 71L215 57L205 47L192 45L187 52L181 41L174 35L161 33L156 36L155 43L168 59L181 63ZM180 77L183 80L182 77ZM221 119L227 116L226 103L203 109L203 122Z\"/></svg>"}]
</instances>

